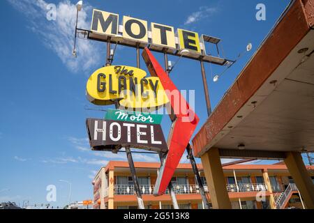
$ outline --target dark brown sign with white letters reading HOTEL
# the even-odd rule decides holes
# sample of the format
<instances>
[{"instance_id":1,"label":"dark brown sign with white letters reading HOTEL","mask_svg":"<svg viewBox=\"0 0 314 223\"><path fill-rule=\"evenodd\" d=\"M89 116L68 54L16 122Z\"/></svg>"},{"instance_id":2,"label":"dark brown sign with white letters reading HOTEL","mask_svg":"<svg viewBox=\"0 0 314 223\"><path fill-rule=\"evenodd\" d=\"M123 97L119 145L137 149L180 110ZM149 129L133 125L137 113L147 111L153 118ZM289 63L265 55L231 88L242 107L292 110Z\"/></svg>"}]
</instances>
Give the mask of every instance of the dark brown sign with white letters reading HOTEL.
<instances>
[{"instance_id":1,"label":"dark brown sign with white letters reading HOTEL","mask_svg":"<svg viewBox=\"0 0 314 223\"><path fill-rule=\"evenodd\" d=\"M158 124L96 118L87 118L86 124L89 144L94 151L119 150L126 146L156 152L168 150Z\"/></svg>"}]
</instances>

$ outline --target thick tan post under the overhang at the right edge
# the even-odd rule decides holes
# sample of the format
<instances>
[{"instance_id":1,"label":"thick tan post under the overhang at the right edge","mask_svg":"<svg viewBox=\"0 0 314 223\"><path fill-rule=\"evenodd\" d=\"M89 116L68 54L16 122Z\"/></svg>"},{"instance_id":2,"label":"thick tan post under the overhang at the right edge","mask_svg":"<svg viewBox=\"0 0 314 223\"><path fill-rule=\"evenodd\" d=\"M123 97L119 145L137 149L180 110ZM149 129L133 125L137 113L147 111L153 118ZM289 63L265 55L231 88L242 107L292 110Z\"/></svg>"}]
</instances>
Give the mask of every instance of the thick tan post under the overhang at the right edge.
<instances>
[{"instance_id":1,"label":"thick tan post under the overhang at the right edge","mask_svg":"<svg viewBox=\"0 0 314 223\"><path fill-rule=\"evenodd\" d=\"M306 208L314 209L314 184L302 160L301 153L287 152L285 165L302 195Z\"/></svg>"}]
</instances>

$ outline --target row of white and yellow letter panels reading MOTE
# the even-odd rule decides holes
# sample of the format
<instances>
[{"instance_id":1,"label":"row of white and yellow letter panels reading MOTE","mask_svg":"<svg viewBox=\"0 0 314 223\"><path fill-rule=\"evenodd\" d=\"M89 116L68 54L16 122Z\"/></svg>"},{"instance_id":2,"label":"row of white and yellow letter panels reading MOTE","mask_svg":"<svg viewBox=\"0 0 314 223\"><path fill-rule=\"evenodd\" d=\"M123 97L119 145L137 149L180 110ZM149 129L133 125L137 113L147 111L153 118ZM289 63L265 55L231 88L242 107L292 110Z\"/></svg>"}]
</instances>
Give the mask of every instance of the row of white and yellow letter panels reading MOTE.
<instances>
[{"instance_id":1,"label":"row of white and yellow letter panels reading MOTE","mask_svg":"<svg viewBox=\"0 0 314 223\"><path fill-rule=\"evenodd\" d=\"M122 42L131 45L138 43L150 44L153 48L162 47L167 50L188 49L192 54L201 54L202 49L205 52L204 38L200 40L200 36L196 32L184 29L177 29L177 32L175 32L172 26L154 22L151 22L149 26L147 21L129 16L123 17L122 24L122 27L119 27L118 14L97 9L93 11L91 21L91 31L93 33L112 38L122 33L124 39Z\"/></svg>"}]
</instances>

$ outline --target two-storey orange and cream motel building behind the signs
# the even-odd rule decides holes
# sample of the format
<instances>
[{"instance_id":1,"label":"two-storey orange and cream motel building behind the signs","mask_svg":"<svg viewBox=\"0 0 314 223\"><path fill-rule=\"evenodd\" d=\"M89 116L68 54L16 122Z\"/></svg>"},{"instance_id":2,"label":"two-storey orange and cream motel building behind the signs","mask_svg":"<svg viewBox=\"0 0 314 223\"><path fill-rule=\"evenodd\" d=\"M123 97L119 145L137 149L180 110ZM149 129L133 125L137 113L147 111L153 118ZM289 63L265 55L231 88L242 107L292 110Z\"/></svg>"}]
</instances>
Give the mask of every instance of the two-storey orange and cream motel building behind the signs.
<instances>
[{"instance_id":1,"label":"two-storey orange and cream motel building behind the signs","mask_svg":"<svg viewBox=\"0 0 314 223\"><path fill-rule=\"evenodd\" d=\"M207 189L202 164L197 164ZM154 197L154 185L160 163L135 162L142 198L146 209L172 208L169 194ZM308 174L314 182L314 167L307 166ZM276 208L306 208L297 186L283 162L277 164L224 164L223 174L234 209L271 208L270 197L276 201ZM181 209L203 209L200 191L190 164L179 164L172 178L172 185ZM130 176L128 162L110 161L101 167L93 180L95 209L137 209L137 198ZM264 199L263 199L264 196Z\"/></svg>"}]
</instances>

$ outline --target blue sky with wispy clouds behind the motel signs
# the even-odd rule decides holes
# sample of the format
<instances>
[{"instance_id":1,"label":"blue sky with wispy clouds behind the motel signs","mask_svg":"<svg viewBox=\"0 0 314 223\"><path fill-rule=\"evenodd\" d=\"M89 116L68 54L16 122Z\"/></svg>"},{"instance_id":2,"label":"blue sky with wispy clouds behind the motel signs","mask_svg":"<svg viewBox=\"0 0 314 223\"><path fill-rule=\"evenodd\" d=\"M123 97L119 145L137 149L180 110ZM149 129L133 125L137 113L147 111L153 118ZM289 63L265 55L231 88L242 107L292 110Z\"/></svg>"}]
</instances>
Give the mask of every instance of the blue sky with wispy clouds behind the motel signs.
<instances>
[{"instance_id":1,"label":"blue sky with wispy clouds behind the motel signs","mask_svg":"<svg viewBox=\"0 0 314 223\"><path fill-rule=\"evenodd\" d=\"M57 20L47 21L45 5L57 5ZM105 43L78 40L77 59L71 50L76 1L0 1L0 201L47 203L47 185L57 186L57 202L91 199L91 178L108 160L126 160L125 154L89 150L85 119L103 117L85 97L89 75L105 63ZM255 19L255 6L264 3L267 20ZM91 9L172 25L221 38L225 56L235 59L253 43L219 82L212 77L223 70L205 66L211 104L214 108L246 62L281 15L289 1L84 1L79 27L89 29ZM161 55L157 58L163 61ZM170 60L175 58L170 56ZM118 47L114 63L136 66L135 49ZM144 62L142 61L142 65ZM207 118L204 91L197 61L182 59L171 75L179 89L195 90L195 112L201 124ZM163 118L167 137L170 121ZM135 161L157 161L158 157L134 155ZM186 160L183 160L186 162Z\"/></svg>"}]
</instances>

